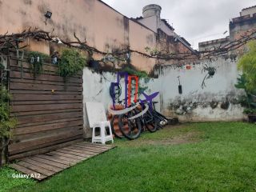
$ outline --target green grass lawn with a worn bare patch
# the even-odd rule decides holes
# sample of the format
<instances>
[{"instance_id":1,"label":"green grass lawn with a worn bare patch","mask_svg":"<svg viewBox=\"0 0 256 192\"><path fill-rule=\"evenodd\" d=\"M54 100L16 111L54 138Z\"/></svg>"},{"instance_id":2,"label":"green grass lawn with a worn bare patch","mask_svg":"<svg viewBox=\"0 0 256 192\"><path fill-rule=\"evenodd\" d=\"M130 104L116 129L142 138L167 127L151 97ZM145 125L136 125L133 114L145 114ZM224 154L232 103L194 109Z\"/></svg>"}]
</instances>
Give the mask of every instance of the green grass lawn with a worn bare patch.
<instances>
[{"instance_id":1,"label":"green grass lawn with a worn bare patch","mask_svg":"<svg viewBox=\"0 0 256 192\"><path fill-rule=\"evenodd\" d=\"M44 182L0 170L0 191L256 191L256 126L170 126L81 162Z\"/></svg>"}]
</instances>

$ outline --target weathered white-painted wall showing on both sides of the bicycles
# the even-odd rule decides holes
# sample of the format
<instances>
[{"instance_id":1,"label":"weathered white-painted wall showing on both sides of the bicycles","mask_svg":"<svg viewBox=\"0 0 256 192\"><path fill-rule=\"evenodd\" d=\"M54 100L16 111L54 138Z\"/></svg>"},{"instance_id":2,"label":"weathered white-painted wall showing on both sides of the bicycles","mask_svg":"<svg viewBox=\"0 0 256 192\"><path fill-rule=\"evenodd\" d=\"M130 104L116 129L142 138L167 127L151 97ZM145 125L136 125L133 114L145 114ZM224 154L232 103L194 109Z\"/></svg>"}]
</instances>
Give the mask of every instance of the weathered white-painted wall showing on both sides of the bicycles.
<instances>
[{"instance_id":1,"label":"weathered white-painted wall showing on both sides of the bicycles","mask_svg":"<svg viewBox=\"0 0 256 192\"><path fill-rule=\"evenodd\" d=\"M206 87L202 89L202 80L206 75L202 69L205 65L214 66L217 71L213 78L206 79ZM154 99L158 102L157 109L167 117L178 116L181 122L242 120L243 108L238 103L238 97L244 93L234 87L238 78L236 62L218 58L214 62L190 63L190 66L191 70L186 70L186 66L161 66L155 71L158 78L149 82L141 79L140 84L147 87L147 94L160 92ZM178 76L182 94L178 94ZM116 75L97 74L85 68L83 82L84 102L103 102L107 109L111 103L110 82L116 82ZM122 88L123 85L124 82ZM124 98L123 94L121 98Z\"/></svg>"}]
</instances>

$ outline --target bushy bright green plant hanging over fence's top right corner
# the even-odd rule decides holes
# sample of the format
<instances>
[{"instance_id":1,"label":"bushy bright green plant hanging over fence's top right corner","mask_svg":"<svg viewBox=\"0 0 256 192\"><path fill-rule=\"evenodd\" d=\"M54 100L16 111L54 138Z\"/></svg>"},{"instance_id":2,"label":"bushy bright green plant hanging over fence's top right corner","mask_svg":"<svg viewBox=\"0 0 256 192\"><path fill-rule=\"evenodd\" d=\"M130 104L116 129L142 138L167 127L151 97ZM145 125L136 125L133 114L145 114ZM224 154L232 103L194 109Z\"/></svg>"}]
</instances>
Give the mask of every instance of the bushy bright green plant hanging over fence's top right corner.
<instances>
[{"instance_id":1,"label":"bushy bright green plant hanging over fence's top right corner","mask_svg":"<svg viewBox=\"0 0 256 192\"><path fill-rule=\"evenodd\" d=\"M58 74L63 78L78 74L86 66L86 58L82 57L80 51L71 49L62 50L60 61L58 62Z\"/></svg>"}]
</instances>

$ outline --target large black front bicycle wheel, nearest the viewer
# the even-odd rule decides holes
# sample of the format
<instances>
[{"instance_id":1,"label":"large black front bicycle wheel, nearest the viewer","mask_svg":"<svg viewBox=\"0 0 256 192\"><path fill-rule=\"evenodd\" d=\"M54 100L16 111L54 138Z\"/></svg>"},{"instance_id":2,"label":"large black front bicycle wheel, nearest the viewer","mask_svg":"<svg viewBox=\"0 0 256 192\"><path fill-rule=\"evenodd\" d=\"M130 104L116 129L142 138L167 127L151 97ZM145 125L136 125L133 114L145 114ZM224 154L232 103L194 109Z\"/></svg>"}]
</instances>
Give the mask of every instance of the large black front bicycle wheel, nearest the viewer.
<instances>
[{"instance_id":1,"label":"large black front bicycle wheel, nearest the viewer","mask_svg":"<svg viewBox=\"0 0 256 192\"><path fill-rule=\"evenodd\" d=\"M119 116L119 129L122 135L126 138L133 140L138 138L142 132L142 125L138 118L129 119L134 116L134 112L130 111L128 114L121 114Z\"/></svg>"}]
</instances>

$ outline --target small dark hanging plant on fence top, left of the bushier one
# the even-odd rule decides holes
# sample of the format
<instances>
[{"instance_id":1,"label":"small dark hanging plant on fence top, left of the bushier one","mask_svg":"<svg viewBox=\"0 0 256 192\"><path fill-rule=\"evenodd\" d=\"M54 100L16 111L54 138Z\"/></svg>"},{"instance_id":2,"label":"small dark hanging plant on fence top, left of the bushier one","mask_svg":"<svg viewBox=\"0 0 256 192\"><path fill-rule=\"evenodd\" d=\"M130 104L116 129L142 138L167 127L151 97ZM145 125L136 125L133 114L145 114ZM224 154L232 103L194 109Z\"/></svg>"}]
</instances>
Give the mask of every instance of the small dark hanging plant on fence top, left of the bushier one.
<instances>
[{"instance_id":1,"label":"small dark hanging plant on fence top, left of the bushier one","mask_svg":"<svg viewBox=\"0 0 256 192\"><path fill-rule=\"evenodd\" d=\"M30 51L28 54L28 60L30 62L30 73L34 75L34 78L37 74L42 74L43 62L45 62L50 57L47 54L42 54L38 51Z\"/></svg>"}]
</instances>

